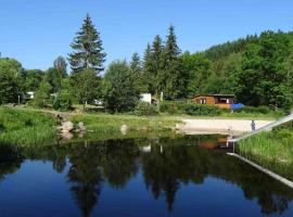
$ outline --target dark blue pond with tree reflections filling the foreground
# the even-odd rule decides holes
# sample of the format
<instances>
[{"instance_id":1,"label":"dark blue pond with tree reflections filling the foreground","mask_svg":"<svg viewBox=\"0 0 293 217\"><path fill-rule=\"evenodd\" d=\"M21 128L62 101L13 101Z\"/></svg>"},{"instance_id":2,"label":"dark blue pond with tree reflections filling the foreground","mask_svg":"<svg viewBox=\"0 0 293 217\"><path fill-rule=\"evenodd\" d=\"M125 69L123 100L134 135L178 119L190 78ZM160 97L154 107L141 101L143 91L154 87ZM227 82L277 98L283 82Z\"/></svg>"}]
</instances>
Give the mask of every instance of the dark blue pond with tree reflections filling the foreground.
<instances>
[{"instance_id":1,"label":"dark blue pond with tree reflections filling the foreground","mask_svg":"<svg viewBox=\"0 0 293 217\"><path fill-rule=\"evenodd\" d=\"M0 216L293 216L293 191L227 155L221 137L0 150Z\"/></svg>"}]
</instances>

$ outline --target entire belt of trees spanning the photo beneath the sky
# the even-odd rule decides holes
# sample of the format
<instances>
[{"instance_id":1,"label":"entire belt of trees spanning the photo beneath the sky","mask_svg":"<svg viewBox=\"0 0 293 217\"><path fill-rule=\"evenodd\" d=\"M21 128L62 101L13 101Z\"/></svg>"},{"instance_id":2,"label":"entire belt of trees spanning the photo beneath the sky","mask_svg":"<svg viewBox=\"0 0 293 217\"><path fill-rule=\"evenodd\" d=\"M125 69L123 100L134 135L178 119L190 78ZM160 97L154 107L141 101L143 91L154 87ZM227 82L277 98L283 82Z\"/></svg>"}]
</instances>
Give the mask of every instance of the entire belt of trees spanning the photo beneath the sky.
<instances>
[{"instance_id":1,"label":"entire belt of trees spanning the photo beneath the sky","mask_svg":"<svg viewBox=\"0 0 293 217\"><path fill-rule=\"evenodd\" d=\"M289 108L293 94L293 33L264 31L206 51L182 52L175 27L166 38L155 36L130 62L117 60L104 68L100 33L87 15L71 43L68 56L59 56L47 71L25 69L14 59L0 59L0 104L25 102L55 110L73 103L102 100L110 111L131 111L140 93L165 100L203 93L235 94L245 105ZM68 71L69 63L71 71Z\"/></svg>"}]
</instances>

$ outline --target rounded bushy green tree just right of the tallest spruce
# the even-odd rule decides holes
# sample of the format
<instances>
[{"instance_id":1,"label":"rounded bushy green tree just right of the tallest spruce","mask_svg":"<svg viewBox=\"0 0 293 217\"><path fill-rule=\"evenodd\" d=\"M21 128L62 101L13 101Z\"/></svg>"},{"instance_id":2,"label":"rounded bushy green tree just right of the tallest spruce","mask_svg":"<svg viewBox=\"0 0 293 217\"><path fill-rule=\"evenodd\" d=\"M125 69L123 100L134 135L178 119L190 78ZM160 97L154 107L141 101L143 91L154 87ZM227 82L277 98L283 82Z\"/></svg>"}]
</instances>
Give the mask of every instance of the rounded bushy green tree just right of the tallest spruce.
<instances>
[{"instance_id":1,"label":"rounded bushy green tree just right of the tallest spruce","mask_svg":"<svg viewBox=\"0 0 293 217\"><path fill-rule=\"evenodd\" d=\"M139 98L140 91L135 86L132 72L127 62L111 63L103 84L103 100L106 110L111 112L132 111Z\"/></svg>"}]
</instances>

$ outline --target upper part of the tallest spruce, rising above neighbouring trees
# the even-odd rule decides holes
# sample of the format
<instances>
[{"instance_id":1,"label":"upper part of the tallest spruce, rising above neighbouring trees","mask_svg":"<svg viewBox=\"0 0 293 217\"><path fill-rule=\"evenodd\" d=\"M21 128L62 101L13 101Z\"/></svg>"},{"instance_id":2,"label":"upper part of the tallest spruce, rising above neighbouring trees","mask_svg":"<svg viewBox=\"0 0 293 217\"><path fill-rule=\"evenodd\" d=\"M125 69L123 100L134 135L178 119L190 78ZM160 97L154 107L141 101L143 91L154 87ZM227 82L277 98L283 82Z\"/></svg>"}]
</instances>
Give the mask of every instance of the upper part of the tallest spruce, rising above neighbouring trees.
<instances>
[{"instance_id":1,"label":"upper part of the tallest spruce, rising above neighbouring trees","mask_svg":"<svg viewBox=\"0 0 293 217\"><path fill-rule=\"evenodd\" d=\"M100 34L94 28L89 14L71 47L74 52L69 54L68 60L74 73L91 68L99 75L104 69L106 54L103 52Z\"/></svg>"}]
</instances>

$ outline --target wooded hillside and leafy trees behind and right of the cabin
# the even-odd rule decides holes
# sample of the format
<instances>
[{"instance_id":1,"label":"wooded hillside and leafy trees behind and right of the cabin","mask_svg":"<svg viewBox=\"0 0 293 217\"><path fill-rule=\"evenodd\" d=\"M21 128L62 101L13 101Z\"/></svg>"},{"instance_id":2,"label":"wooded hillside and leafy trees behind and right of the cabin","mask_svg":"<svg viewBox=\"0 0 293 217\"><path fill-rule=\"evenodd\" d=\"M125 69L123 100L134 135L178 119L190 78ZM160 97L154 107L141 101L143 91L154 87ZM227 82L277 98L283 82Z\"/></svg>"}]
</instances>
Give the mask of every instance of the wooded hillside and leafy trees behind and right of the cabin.
<instances>
[{"instance_id":1,"label":"wooded hillside and leafy trees behind and right of the cabin","mask_svg":"<svg viewBox=\"0 0 293 217\"><path fill-rule=\"evenodd\" d=\"M292 104L292 31L264 31L202 53L184 53L182 59L183 63L189 59L198 63L193 69L188 68L193 71L190 92L234 93L240 102L250 105Z\"/></svg>"}]
</instances>

